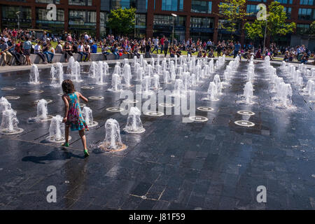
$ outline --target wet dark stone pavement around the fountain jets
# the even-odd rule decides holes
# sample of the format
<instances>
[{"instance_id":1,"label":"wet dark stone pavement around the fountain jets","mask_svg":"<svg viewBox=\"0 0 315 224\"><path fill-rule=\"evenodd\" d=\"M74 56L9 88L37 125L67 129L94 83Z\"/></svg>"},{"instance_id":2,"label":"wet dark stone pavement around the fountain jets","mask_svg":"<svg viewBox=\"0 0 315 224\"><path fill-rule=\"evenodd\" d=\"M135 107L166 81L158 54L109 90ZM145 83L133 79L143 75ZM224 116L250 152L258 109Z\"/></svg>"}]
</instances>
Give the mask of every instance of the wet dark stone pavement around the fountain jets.
<instances>
[{"instance_id":1,"label":"wet dark stone pavement around the fountain jets","mask_svg":"<svg viewBox=\"0 0 315 224\"><path fill-rule=\"evenodd\" d=\"M120 105L119 94L106 92L109 85L81 90L80 85L92 83L83 66L85 82L76 83L77 90L85 97L104 97L87 103L99 123L87 132L89 158L78 133L71 132L65 149L45 141L50 122L27 123L36 115L36 99L52 99L49 114L63 115L61 87L49 87L50 69L40 69L41 85L27 84L29 71L1 73L0 87L17 89L0 90L0 97L21 97L10 103L25 132L0 136L0 209L315 209L314 104L293 85L296 109L276 109L262 64L255 64L255 104L239 104L246 68L241 62L218 102L199 100L213 76L194 88L196 108L214 108L196 111L209 118L207 123L142 115L146 132L127 134L127 116L106 111ZM221 79L224 69L218 71ZM255 126L235 125L242 120L237 111L245 109L255 112L249 119ZM95 147L104 140L108 118L118 120L127 150L105 153ZM57 188L57 203L46 201L48 186ZM256 201L258 186L267 188L266 203Z\"/></svg>"}]
</instances>

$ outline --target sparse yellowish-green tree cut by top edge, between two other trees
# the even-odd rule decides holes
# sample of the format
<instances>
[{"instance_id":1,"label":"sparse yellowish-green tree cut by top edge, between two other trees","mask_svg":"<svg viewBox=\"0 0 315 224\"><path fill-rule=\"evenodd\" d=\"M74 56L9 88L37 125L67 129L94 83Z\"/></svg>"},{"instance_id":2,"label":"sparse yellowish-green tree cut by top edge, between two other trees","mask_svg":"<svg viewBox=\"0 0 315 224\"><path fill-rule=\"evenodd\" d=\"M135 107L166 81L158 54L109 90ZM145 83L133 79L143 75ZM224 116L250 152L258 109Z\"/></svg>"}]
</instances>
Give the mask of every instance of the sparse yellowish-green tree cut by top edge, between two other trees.
<instances>
[{"instance_id":1,"label":"sparse yellowish-green tree cut by top edge, between two other trees","mask_svg":"<svg viewBox=\"0 0 315 224\"><path fill-rule=\"evenodd\" d=\"M246 13L246 0L225 0L218 4L218 8L219 15L226 20L221 27L229 31L233 39L233 34L237 31L237 26L239 24L242 25L246 21L246 16L250 15Z\"/></svg>"}]
</instances>

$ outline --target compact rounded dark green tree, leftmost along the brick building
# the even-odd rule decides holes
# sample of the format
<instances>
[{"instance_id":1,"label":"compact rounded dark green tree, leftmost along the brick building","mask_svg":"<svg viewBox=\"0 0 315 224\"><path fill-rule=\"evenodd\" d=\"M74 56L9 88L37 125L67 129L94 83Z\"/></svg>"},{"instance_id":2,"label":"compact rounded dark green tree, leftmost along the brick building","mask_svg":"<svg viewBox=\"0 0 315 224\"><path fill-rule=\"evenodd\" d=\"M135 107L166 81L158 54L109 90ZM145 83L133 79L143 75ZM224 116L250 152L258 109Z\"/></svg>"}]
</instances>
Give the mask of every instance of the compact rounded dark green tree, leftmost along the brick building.
<instances>
[{"instance_id":1,"label":"compact rounded dark green tree, leftmost along the brick building","mask_svg":"<svg viewBox=\"0 0 315 224\"><path fill-rule=\"evenodd\" d=\"M135 25L136 8L117 8L109 13L107 26L114 34L132 34Z\"/></svg>"}]
</instances>

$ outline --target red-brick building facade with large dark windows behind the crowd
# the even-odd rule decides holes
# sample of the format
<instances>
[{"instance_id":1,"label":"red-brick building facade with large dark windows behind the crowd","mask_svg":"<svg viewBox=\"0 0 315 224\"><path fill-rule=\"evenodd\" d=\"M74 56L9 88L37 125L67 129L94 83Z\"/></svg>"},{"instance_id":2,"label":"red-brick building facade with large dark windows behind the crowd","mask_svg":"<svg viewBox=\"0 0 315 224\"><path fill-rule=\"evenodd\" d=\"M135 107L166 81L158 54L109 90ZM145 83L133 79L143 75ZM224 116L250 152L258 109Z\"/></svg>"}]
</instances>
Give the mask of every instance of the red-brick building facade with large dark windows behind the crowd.
<instances>
[{"instance_id":1,"label":"red-brick building facade with large dark windows behind the crowd","mask_svg":"<svg viewBox=\"0 0 315 224\"><path fill-rule=\"evenodd\" d=\"M248 0L246 10L253 13L247 20L255 20L256 5L269 5L274 0ZM276 0L286 10L288 22L297 24L296 33L309 28L315 20L315 0ZM102 38L110 33L106 27L106 18L113 8L137 8L136 36L172 36L178 40L201 38L214 42L230 38L230 34L221 29L225 20L218 13L220 0L1 0L1 28L20 27L31 29L46 29L54 34L64 31L80 34L87 31L96 38ZM57 18L48 21L46 14L48 3L57 6ZM16 12L20 11L19 18ZM176 18L171 15L175 13ZM174 21L173 21L174 20ZM241 27L241 26L239 26ZM244 31L237 30L234 35L244 43ZM287 37L283 37L288 41Z\"/></svg>"}]
</instances>

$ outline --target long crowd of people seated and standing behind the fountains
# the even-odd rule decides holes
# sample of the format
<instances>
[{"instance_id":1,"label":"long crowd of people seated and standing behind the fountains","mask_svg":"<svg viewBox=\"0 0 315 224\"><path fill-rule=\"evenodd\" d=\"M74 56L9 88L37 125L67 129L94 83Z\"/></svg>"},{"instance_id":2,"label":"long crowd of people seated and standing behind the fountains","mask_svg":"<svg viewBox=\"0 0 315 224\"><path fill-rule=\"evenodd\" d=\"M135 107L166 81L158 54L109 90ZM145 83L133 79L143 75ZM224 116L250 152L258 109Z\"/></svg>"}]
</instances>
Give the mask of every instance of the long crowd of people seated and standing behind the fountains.
<instances>
[{"instance_id":1,"label":"long crowd of people seated and standing behind the fountains","mask_svg":"<svg viewBox=\"0 0 315 224\"><path fill-rule=\"evenodd\" d=\"M122 55L128 55L129 58L139 57L141 53L148 58L151 57L152 53L159 53L159 51L160 54L164 53L165 57L167 55L179 57L183 54L197 54L197 57L226 55L246 59L251 56L255 59L264 59L265 56L269 55L271 59L274 59L274 57L284 55L283 60L286 62L297 59L304 64L307 64L310 58L314 58L314 52L307 49L305 45L279 47L275 43L271 43L269 48L262 49L260 45L255 48L253 43L241 45L239 41L223 40L214 43L210 39L208 41L201 41L200 39L194 41L193 38L188 38L188 40L181 42L174 39L173 42L166 36L138 39L111 34L102 40L97 40L86 32L80 36L66 34L63 38L57 38L43 31L41 35L36 37L35 31L7 28L3 29L0 34L0 50L3 65L10 65L12 57L15 58L15 64L30 65L31 54L38 55L43 64L52 63L56 53L63 54L62 57L64 57L65 62L76 53L80 55L80 62L87 62L90 61L91 54L97 52L102 52L104 59L107 59L109 55L113 55L115 59L120 59Z\"/></svg>"}]
</instances>

